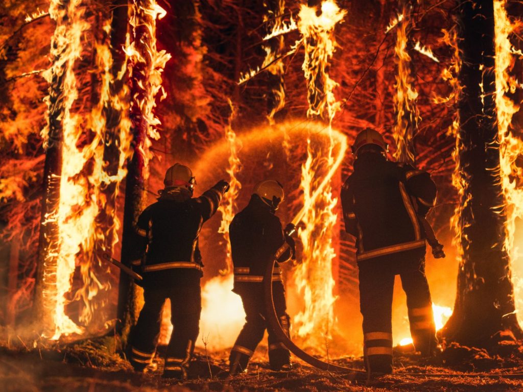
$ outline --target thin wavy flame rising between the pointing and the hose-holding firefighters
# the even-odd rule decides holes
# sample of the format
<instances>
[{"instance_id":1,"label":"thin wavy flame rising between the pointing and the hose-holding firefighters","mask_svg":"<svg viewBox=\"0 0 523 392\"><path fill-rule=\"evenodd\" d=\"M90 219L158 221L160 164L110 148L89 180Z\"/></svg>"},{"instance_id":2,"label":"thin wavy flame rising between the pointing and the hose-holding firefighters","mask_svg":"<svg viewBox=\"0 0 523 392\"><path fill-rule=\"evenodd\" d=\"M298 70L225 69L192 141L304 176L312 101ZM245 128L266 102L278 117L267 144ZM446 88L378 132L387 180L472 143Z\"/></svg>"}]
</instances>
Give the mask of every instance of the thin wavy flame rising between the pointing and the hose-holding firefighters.
<instances>
[{"instance_id":1,"label":"thin wavy flame rising between the pointing and the hose-holding firefighters","mask_svg":"<svg viewBox=\"0 0 523 392\"><path fill-rule=\"evenodd\" d=\"M232 270L232 259L231 259L231 241L229 240L229 225L231 224L236 207L236 199L238 198L238 193L242 189L242 184L238 181L236 174L242 168L242 163L238 154L236 152L236 134L232 129L232 121L235 116L235 109L232 105L231 100L229 100L229 106L231 107L231 114L229 116L229 122L225 127L225 140L229 144L229 167L225 170L229 175L229 192L223 195L222 202L218 207L218 211L222 214L222 221L218 233L222 233L225 238L225 243L227 244L227 253L226 253L226 268L220 270L222 275L229 274ZM238 145L240 147L241 145Z\"/></svg>"}]
</instances>

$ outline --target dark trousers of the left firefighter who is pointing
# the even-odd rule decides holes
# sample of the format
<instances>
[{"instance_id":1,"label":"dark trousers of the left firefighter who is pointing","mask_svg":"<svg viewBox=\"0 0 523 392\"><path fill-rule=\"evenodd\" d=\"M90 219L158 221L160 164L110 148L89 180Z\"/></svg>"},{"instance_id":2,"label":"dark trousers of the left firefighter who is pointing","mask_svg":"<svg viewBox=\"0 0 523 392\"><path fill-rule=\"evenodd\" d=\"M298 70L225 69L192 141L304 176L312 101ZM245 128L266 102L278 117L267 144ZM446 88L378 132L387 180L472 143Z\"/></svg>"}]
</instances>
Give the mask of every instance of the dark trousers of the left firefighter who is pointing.
<instances>
[{"instance_id":1,"label":"dark trousers of the left firefighter who is pointing","mask_svg":"<svg viewBox=\"0 0 523 392\"><path fill-rule=\"evenodd\" d=\"M135 369L143 370L151 362L160 336L162 307L169 298L173 333L167 347L164 376L186 378L199 333L200 278L168 286L145 286L143 296L145 303L129 337L131 364Z\"/></svg>"}]
</instances>

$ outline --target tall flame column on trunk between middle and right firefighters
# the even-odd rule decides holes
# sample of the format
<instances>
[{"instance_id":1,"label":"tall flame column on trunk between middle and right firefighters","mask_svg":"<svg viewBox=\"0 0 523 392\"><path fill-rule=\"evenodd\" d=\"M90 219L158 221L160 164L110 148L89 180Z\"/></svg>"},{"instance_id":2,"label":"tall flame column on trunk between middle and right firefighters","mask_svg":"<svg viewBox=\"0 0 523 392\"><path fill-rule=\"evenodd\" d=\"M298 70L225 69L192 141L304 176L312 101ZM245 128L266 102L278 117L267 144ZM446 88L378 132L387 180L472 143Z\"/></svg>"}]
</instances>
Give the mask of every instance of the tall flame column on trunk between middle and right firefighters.
<instances>
[{"instance_id":1,"label":"tall flame column on trunk between middle and right firefighters","mask_svg":"<svg viewBox=\"0 0 523 392\"><path fill-rule=\"evenodd\" d=\"M323 347L324 338L331 333L334 323L333 305L334 279L332 262L335 251L332 246L332 233L337 222L334 213L337 199L333 197L329 183L323 182L323 190L318 190L320 180L315 171L336 170L345 155L346 144L333 156L335 142L332 133L332 120L340 109L340 103L334 96L337 83L327 72L337 46L334 28L343 21L345 10L340 10L332 0L321 5L321 14L315 7L301 6L298 27L303 36L305 58L302 69L308 86L308 117L323 116L327 113L329 144L325 156L317 156L308 140L307 159L302 165L301 184L304 203L304 227L298 230L303 245L301 264L294 273L294 282L303 294L305 309L294 318L298 335L314 347ZM340 159L341 158L341 159ZM331 176L333 172L331 170ZM317 240L321 238L322 240ZM321 333L323 336L318 336Z\"/></svg>"}]
</instances>

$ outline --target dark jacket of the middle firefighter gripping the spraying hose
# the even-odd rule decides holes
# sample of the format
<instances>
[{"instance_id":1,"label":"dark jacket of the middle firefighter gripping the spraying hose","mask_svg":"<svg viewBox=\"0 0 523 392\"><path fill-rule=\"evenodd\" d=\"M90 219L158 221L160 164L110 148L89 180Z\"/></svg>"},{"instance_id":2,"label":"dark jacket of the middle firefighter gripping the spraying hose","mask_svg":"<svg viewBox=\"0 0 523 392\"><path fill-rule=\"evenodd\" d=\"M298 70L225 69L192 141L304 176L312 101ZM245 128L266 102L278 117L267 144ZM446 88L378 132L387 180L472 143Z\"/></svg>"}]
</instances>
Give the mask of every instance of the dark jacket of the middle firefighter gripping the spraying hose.
<instances>
[{"instance_id":1,"label":"dark jacket of the middle firefighter gripping the spraying hose","mask_svg":"<svg viewBox=\"0 0 523 392\"><path fill-rule=\"evenodd\" d=\"M232 262L234 265L234 292L242 288L260 285L267 268L278 248L286 242L280 219L257 195L242 211L238 212L229 225ZM288 240L289 243L292 241ZM290 249L278 258L288 261L294 256ZM272 281L281 281L279 266L274 268Z\"/></svg>"}]
</instances>

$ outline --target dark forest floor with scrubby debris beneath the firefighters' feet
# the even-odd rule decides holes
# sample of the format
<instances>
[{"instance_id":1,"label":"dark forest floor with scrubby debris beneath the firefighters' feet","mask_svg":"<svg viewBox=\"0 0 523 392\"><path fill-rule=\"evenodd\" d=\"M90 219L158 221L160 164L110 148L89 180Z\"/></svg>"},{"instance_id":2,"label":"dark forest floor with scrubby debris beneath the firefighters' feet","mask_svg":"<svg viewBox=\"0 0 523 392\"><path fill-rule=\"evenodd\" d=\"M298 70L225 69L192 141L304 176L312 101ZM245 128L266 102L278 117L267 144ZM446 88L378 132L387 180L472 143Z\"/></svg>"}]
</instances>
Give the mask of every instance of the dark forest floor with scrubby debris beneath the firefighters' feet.
<instances>
[{"instance_id":1,"label":"dark forest floor with scrubby debris beneath the firefighters' feet","mask_svg":"<svg viewBox=\"0 0 523 392\"><path fill-rule=\"evenodd\" d=\"M197 349L191 378L183 383L161 377L157 354L146 373L133 372L110 337L46 346L16 335L0 340L0 390L12 391L522 391L523 345L504 343L497 353L451 345L427 364L408 347L396 347L394 373L367 380L365 374L339 374L295 362L289 372L272 372L260 347L246 374L226 374L228 351L206 355ZM363 369L361 358L333 363ZM210 375L212 373L212 377Z\"/></svg>"}]
</instances>

